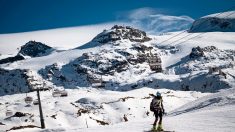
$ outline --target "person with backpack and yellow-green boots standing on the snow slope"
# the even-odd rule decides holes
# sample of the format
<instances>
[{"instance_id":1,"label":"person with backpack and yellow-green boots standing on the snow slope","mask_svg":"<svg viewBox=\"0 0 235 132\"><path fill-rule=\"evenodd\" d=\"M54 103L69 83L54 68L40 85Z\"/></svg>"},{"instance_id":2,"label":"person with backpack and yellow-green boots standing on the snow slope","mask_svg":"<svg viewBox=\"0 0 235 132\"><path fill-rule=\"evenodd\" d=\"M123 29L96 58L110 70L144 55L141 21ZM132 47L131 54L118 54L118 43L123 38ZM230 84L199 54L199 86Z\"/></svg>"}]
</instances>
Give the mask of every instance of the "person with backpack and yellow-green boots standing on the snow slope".
<instances>
[{"instance_id":1,"label":"person with backpack and yellow-green boots standing on the snow slope","mask_svg":"<svg viewBox=\"0 0 235 132\"><path fill-rule=\"evenodd\" d=\"M154 112L154 115L155 115L155 121L153 123L152 130L163 131L162 116L165 113L165 110L163 107L163 101L162 101L162 96L160 92L157 92L156 95L154 95L154 98L152 99L152 102L150 103L150 110ZM159 122L158 122L158 118L159 118ZM156 129L157 122L158 122L158 127Z\"/></svg>"}]
</instances>

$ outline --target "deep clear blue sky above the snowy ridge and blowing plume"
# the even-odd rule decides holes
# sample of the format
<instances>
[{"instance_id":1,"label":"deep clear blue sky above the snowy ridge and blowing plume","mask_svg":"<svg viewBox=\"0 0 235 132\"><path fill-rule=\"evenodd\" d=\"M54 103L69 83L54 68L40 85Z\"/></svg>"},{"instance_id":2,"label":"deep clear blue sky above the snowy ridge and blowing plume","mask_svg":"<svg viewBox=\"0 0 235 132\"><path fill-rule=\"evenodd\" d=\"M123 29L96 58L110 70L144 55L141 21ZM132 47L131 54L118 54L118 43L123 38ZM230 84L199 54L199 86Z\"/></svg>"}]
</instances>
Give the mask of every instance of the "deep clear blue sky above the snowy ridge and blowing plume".
<instances>
[{"instance_id":1,"label":"deep clear blue sky above the snowy ridge and blowing plume","mask_svg":"<svg viewBox=\"0 0 235 132\"><path fill-rule=\"evenodd\" d=\"M0 0L0 34L122 21L140 8L197 19L232 6L235 0Z\"/></svg>"}]
</instances>

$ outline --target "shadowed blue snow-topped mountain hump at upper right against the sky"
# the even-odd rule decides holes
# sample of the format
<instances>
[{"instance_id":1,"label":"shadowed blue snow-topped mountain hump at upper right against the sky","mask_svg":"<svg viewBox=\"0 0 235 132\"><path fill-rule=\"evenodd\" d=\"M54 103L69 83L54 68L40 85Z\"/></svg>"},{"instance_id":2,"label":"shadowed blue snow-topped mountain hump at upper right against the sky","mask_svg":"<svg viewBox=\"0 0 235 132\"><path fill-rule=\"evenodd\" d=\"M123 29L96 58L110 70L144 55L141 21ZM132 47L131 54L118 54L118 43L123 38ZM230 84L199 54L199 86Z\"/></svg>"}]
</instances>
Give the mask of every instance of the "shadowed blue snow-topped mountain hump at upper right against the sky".
<instances>
[{"instance_id":1,"label":"shadowed blue snow-topped mountain hump at upper right against the sky","mask_svg":"<svg viewBox=\"0 0 235 132\"><path fill-rule=\"evenodd\" d=\"M221 12L194 21L189 32L234 32L235 11Z\"/></svg>"}]
</instances>

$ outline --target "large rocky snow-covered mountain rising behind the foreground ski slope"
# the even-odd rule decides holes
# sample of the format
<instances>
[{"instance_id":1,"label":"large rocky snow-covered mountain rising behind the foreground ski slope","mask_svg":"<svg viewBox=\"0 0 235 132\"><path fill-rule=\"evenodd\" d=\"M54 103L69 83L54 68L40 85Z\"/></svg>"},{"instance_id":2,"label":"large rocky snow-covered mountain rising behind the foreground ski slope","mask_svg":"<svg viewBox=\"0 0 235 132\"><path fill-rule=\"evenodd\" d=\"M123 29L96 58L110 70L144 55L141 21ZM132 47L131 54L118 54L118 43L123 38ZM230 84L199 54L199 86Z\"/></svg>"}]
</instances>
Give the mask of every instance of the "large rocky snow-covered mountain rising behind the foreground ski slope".
<instances>
[{"instance_id":1,"label":"large rocky snow-covered mountain rising behind the foreground ski slope","mask_svg":"<svg viewBox=\"0 0 235 132\"><path fill-rule=\"evenodd\" d=\"M77 49L3 64L2 68L30 69L54 86L65 88L98 85L104 89L127 91L148 86L215 92L232 86L233 73L227 72L233 68L235 52L231 47L230 50L219 49L221 44L225 47L224 41L219 40L221 44L215 46L202 44L201 48L194 44L157 45L159 38L164 36L150 38L141 30L114 26ZM176 58L175 62L172 57ZM153 65L160 71L153 69Z\"/></svg>"}]
</instances>

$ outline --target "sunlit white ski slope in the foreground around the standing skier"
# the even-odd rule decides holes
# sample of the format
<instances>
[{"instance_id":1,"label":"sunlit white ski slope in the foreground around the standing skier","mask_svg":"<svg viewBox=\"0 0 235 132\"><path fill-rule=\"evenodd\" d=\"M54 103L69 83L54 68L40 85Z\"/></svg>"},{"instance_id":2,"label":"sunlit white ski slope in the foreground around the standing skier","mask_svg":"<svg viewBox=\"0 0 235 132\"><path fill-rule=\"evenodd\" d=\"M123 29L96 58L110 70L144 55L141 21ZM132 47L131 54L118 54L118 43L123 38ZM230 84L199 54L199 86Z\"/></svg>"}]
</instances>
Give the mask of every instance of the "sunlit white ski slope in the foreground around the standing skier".
<instances>
[{"instance_id":1,"label":"sunlit white ski slope in the foreground around the standing skier","mask_svg":"<svg viewBox=\"0 0 235 132\"><path fill-rule=\"evenodd\" d=\"M23 129L20 131L144 132L151 129L151 124L154 121L154 117L152 116L152 113L150 113L149 116L145 115L145 112L149 109L151 98L144 101L141 98L147 97L148 93L154 93L156 90L142 88L127 93L97 91L94 89L89 89L90 92L87 91L88 90L85 89L69 91L70 96L68 98L57 99L51 99L49 98L50 93L42 92L42 105L44 111L47 111L44 115L47 129L41 130L38 128L32 128ZM234 88L222 90L216 94L172 90L170 93L166 93L169 91L167 89L159 89L158 91L163 93L164 105L168 113L168 115L164 116L163 118L163 128L165 130L175 130L176 132L232 132L235 128L235 116L233 114L235 112ZM31 95L33 95L33 93L31 93ZM81 96L78 97L77 95ZM99 96L98 98L97 95ZM19 100L17 104L14 104L14 106L18 105L17 109L15 110L26 111L27 109L31 109L30 113L38 115L38 109L36 106L25 107L25 104L22 103L23 96L24 95L15 95L14 98L12 98L11 102L14 102L14 100ZM107 106L104 106L104 109L107 109L109 113L106 113L108 116L105 114L103 117L95 116L93 114L84 114L83 118L77 119L75 113L76 109L73 108L71 104L69 104L70 102L84 97L89 97L90 100L95 102L95 104L99 104L101 102L109 102L111 100L117 100L120 97L126 96L134 97L134 99L127 99L125 102L116 102L114 104L108 104ZM9 98L3 97L1 98L1 101L3 100L9 101ZM57 103L54 104L53 102ZM47 105L45 106L45 104ZM129 107L131 108L130 110L128 110ZM119 109L110 110L110 108ZM50 117L50 115L55 113L57 114L56 119ZM122 119L123 114L127 114L128 122L124 122ZM119 123L113 123L108 126L97 126L97 123L92 121L89 116L96 119L106 120L107 118L116 118L119 120ZM119 118L117 118L118 116ZM136 116L136 118L133 118L132 116ZM3 114L1 114L1 117L3 117ZM39 125L39 118L36 117L35 121ZM85 123L86 120L88 123L88 128ZM11 122L15 122L12 123L12 125L27 124L23 123L22 120L17 120L17 118L12 118ZM4 128L4 126L2 128Z\"/></svg>"}]
</instances>

